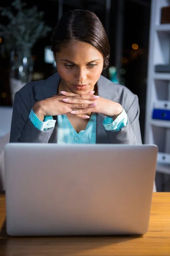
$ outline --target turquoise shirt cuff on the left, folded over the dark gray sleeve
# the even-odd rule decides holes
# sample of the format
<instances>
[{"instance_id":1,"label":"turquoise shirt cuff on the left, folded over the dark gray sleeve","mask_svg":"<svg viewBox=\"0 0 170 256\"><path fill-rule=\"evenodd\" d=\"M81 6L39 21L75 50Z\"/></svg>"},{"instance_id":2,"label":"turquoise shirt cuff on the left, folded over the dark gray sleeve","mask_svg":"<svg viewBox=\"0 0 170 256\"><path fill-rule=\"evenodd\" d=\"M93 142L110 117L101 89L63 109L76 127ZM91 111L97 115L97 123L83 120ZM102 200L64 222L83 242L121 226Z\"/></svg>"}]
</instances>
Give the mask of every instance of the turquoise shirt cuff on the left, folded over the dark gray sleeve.
<instances>
[{"instance_id":1,"label":"turquoise shirt cuff on the left, folded over the dark gray sleeve","mask_svg":"<svg viewBox=\"0 0 170 256\"><path fill-rule=\"evenodd\" d=\"M33 123L33 125L40 131L47 130L49 128L53 128L55 126L56 120L52 118L52 116L45 116L44 121L42 122L34 113L33 109L29 114L29 119Z\"/></svg>"}]
</instances>

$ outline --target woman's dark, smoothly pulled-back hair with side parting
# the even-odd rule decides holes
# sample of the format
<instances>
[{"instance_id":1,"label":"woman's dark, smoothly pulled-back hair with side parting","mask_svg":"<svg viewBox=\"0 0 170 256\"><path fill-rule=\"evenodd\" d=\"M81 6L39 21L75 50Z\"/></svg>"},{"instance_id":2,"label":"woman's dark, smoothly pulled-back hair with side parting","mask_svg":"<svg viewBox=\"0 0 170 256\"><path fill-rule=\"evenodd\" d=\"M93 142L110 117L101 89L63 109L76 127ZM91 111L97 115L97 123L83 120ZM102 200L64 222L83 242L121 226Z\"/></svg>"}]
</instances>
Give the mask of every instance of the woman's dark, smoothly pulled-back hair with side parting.
<instances>
[{"instance_id":1,"label":"woman's dark, smoothly pulled-back hair with side parting","mask_svg":"<svg viewBox=\"0 0 170 256\"><path fill-rule=\"evenodd\" d=\"M91 44L102 53L103 68L109 65L110 46L104 26L94 12L71 10L65 12L51 36L51 51L60 52L71 40Z\"/></svg>"}]
</instances>

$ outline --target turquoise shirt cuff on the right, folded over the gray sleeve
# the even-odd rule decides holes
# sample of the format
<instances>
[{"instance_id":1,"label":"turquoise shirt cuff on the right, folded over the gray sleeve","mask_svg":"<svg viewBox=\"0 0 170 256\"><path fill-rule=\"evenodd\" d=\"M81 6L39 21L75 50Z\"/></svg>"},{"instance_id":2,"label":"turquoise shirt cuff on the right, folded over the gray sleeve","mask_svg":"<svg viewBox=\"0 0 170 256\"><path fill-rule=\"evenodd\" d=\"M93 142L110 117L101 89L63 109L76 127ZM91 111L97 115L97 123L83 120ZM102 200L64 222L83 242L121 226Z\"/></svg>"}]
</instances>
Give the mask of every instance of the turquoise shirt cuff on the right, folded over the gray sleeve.
<instances>
[{"instance_id":1,"label":"turquoise shirt cuff on the right, folded over the gray sleeve","mask_svg":"<svg viewBox=\"0 0 170 256\"><path fill-rule=\"evenodd\" d=\"M111 117L106 117L103 120L103 125L106 131L120 131L127 125L127 113L123 110L114 121Z\"/></svg>"}]
</instances>

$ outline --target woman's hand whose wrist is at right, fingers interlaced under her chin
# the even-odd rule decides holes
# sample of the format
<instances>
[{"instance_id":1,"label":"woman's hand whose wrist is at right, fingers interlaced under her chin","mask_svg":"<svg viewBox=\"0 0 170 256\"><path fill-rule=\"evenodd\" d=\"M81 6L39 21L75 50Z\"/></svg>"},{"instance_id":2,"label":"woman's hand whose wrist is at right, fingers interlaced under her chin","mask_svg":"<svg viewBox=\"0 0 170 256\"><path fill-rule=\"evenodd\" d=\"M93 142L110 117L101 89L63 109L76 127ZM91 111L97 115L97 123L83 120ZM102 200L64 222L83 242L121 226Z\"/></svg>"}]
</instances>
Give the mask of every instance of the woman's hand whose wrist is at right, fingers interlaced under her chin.
<instances>
[{"instance_id":1,"label":"woman's hand whose wrist is at right, fingers interlaced under her chin","mask_svg":"<svg viewBox=\"0 0 170 256\"><path fill-rule=\"evenodd\" d=\"M117 103L113 102L111 100L99 97L99 96L91 96L88 95L79 95L71 97L71 93L64 93L65 99L63 99L64 102L66 102L69 105L79 106L80 109L74 109L71 111L72 114L74 114L77 117L82 117L85 113L94 112L94 113L100 113L104 116L114 116L113 119L116 119L117 116L119 116L120 113L122 113L123 108L122 106ZM90 104L92 97L96 97L96 101L92 104Z\"/></svg>"}]
</instances>

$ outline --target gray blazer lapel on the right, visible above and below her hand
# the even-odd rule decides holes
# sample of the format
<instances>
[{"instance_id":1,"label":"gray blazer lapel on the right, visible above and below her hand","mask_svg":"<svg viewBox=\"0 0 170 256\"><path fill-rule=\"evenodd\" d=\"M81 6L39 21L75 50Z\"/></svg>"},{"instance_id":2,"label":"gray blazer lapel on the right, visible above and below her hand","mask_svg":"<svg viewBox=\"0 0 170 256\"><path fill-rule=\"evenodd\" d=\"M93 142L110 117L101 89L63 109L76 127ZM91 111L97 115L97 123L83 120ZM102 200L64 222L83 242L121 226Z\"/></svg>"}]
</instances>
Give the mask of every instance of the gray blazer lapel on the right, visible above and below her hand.
<instances>
[{"instance_id":1,"label":"gray blazer lapel on the right, visible above and below her hand","mask_svg":"<svg viewBox=\"0 0 170 256\"><path fill-rule=\"evenodd\" d=\"M112 101L116 101L119 99L119 95L117 93L116 87L114 83L110 80L106 79L104 76L100 76L97 81L98 87L98 95L102 98L109 99ZM102 124L103 120L106 116L97 114L96 117L96 143L103 144L109 143L108 135L106 134L105 127Z\"/></svg>"}]
</instances>

